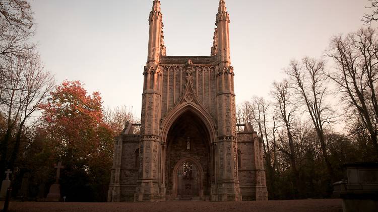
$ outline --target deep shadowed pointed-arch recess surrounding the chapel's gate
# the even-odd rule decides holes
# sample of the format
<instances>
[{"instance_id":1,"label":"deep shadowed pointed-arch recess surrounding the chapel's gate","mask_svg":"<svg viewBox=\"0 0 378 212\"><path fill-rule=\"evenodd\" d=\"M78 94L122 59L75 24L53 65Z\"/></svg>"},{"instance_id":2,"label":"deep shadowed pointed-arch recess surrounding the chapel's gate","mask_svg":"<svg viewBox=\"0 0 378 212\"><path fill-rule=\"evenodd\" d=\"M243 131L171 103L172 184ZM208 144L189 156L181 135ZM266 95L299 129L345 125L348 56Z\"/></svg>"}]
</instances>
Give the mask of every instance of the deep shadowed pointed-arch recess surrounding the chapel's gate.
<instances>
[{"instance_id":1,"label":"deep shadowed pointed-arch recess surrounding the chapel's gate","mask_svg":"<svg viewBox=\"0 0 378 212\"><path fill-rule=\"evenodd\" d=\"M193 112L184 112L170 127L165 162L165 185L172 199L210 195L210 134Z\"/></svg>"}]
</instances>

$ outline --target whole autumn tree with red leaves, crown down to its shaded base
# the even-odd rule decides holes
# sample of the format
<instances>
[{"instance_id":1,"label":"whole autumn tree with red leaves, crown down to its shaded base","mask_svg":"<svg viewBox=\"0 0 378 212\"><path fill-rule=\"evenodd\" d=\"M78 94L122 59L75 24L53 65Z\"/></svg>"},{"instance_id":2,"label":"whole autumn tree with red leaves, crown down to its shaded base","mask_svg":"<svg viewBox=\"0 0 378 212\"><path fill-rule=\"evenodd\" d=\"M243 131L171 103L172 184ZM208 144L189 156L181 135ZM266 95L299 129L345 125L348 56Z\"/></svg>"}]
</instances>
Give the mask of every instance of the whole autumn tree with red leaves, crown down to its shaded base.
<instances>
[{"instance_id":1,"label":"whole autumn tree with red leaves, crown down to its shaded base","mask_svg":"<svg viewBox=\"0 0 378 212\"><path fill-rule=\"evenodd\" d=\"M66 165L62 192L81 201L104 200L110 176L113 133L103 123L100 94L88 95L80 81L64 81L55 87L51 98L41 104L40 109L49 148L56 161L62 160ZM90 186L80 187L83 183L79 183L78 178Z\"/></svg>"}]
</instances>

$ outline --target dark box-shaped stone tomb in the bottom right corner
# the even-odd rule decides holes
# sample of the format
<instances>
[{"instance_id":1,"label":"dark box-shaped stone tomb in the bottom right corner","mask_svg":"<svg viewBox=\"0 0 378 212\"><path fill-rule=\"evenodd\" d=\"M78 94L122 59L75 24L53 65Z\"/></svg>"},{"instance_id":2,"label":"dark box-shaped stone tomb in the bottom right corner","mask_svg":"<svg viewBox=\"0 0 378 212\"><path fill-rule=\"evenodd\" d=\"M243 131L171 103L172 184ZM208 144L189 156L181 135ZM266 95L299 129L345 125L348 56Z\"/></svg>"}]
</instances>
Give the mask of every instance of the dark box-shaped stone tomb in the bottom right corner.
<instances>
[{"instance_id":1,"label":"dark box-shaped stone tomb in the bottom right corner","mask_svg":"<svg viewBox=\"0 0 378 212\"><path fill-rule=\"evenodd\" d=\"M378 210L378 163L344 165L347 180L334 183L334 195L343 199L343 211Z\"/></svg>"}]
</instances>

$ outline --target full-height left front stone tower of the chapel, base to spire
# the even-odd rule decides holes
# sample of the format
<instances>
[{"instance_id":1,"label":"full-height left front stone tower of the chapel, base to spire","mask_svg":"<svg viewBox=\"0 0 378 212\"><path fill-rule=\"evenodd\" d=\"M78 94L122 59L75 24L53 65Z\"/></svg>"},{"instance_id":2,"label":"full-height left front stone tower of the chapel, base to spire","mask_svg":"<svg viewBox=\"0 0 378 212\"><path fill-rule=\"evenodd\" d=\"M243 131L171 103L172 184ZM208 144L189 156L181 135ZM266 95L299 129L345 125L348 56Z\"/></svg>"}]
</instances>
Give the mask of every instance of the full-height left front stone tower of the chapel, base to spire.
<instances>
[{"instance_id":1,"label":"full-height left front stone tower of the chapel, base to spire","mask_svg":"<svg viewBox=\"0 0 378 212\"><path fill-rule=\"evenodd\" d=\"M163 42L163 15L160 1L153 1L149 18L150 34L148 39L148 57L143 75L142 113L140 132L140 167L135 201L159 201L165 197L165 185L159 185L159 122L161 120L162 72L159 68L160 57L165 56ZM160 151L160 150L159 150ZM160 172L159 172L160 173Z\"/></svg>"}]
</instances>

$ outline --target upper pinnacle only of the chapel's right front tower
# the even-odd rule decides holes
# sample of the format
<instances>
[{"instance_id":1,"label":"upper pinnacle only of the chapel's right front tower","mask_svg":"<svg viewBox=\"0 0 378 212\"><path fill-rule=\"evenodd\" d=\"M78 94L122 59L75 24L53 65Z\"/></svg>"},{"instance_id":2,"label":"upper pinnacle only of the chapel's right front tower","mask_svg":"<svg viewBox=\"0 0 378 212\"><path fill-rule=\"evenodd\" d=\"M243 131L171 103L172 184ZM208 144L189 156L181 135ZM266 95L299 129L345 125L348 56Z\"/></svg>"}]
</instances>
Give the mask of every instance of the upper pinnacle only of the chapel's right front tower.
<instances>
[{"instance_id":1,"label":"upper pinnacle only of the chapel's right front tower","mask_svg":"<svg viewBox=\"0 0 378 212\"><path fill-rule=\"evenodd\" d=\"M219 9L215 25L217 26L218 45L217 55L219 63L224 66L230 65L230 37L229 37L230 18L224 0L219 1Z\"/></svg>"}]
</instances>

